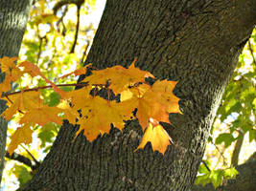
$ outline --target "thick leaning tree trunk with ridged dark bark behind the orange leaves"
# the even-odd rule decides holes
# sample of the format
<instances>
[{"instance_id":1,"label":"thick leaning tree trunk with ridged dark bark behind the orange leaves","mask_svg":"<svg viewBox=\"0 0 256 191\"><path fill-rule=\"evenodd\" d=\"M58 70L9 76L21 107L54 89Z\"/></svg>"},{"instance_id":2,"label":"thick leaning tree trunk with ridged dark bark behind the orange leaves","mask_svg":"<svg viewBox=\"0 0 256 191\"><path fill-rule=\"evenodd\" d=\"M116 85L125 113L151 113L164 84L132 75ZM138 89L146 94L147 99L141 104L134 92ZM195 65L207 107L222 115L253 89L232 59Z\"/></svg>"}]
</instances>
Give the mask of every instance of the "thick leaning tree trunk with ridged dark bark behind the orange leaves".
<instances>
[{"instance_id":1,"label":"thick leaning tree trunk with ridged dark bark behind the orange leaves","mask_svg":"<svg viewBox=\"0 0 256 191\"><path fill-rule=\"evenodd\" d=\"M136 66L177 80L184 115L165 125L175 144L164 156L150 144L133 152L142 130L125 130L90 143L72 142L64 122L50 153L20 190L190 190L221 95L256 23L256 1L108 0L86 63L102 69Z\"/></svg>"}]
</instances>

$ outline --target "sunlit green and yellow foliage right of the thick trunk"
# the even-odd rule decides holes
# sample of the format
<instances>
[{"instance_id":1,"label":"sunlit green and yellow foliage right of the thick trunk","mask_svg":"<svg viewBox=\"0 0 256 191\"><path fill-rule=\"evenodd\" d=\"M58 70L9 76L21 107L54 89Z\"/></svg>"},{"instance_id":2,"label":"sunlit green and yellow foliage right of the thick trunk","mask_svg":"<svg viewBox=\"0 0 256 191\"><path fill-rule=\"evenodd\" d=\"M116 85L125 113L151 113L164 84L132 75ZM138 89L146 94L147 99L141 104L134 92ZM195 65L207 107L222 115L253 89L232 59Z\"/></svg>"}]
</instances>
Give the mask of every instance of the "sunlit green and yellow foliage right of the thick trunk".
<instances>
[{"instance_id":1,"label":"sunlit green and yellow foliage right of the thick trunk","mask_svg":"<svg viewBox=\"0 0 256 191\"><path fill-rule=\"evenodd\" d=\"M214 146L216 149L209 152L206 148L205 163L199 167L196 184L205 185L212 182L215 187L218 187L224 180L234 179L238 174L234 166L239 163L239 155L243 151L242 146L246 141L245 135L248 135L247 146L249 146L249 142L252 143L256 140L255 52L256 30L252 32L251 38L246 43L244 51L239 57L238 66L222 96L221 106L207 145L207 147ZM216 135L216 132L219 134ZM216 156L220 157L217 162L214 162L213 157ZM208 166L208 170L205 165ZM218 168L211 166L218 166Z\"/></svg>"}]
</instances>

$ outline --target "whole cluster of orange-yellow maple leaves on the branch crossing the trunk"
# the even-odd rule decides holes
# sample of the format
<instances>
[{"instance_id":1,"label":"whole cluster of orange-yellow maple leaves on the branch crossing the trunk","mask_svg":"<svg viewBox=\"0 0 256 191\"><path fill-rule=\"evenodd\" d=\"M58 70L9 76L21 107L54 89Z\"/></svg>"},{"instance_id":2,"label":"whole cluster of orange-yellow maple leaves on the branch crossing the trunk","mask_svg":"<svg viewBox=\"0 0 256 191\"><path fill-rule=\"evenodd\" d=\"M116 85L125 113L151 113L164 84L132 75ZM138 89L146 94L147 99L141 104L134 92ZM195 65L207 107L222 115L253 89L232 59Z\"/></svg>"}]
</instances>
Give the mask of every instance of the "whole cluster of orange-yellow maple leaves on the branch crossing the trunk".
<instances>
[{"instance_id":1,"label":"whole cluster of orange-yellow maple leaves on the branch crossing the trunk","mask_svg":"<svg viewBox=\"0 0 256 191\"><path fill-rule=\"evenodd\" d=\"M170 123L169 113L180 113L179 98L173 94L175 81L156 80L149 85L145 81L145 77L154 78L154 76L135 68L134 60L128 69L115 66L101 71L92 71L92 74L85 77L81 84L76 84L84 87L65 93L41 74L39 68L33 63L24 61L16 66L15 60L17 60L16 57L0 59L1 70L5 73L5 80L0 84L1 91L9 106L1 116L10 120L13 115L18 113L17 122L22 125L12 135L12 141L8 148L11 155L18 144L32 142L31 126L35 126L35 124L43 126L48 122L61 124L62 119L58 116L60 113L70 123L80 125L76 136L83 131L83 135L89 141L108 133L111 124L119 130L123 130L126 120L137 117L143 131L148 127L138 149L143 148L148 141L151 141L153 150L165 153L171 138L159 121ZM91 64L75 71L74 74L85 74L85 69L88 67L91 67ZM32 77L39 75L51 85L8 93L11 91L10 84L23 74L30 74ZM38 90L49 87L52 87L61 97L58 106L50 107L44 104L40 97ZM98 94L103 90L107 92L107 99ZM120 95L119 100L110 100L111 92ZM136 115L134 116L135 109Z\"/></svg>"}]
</instances>

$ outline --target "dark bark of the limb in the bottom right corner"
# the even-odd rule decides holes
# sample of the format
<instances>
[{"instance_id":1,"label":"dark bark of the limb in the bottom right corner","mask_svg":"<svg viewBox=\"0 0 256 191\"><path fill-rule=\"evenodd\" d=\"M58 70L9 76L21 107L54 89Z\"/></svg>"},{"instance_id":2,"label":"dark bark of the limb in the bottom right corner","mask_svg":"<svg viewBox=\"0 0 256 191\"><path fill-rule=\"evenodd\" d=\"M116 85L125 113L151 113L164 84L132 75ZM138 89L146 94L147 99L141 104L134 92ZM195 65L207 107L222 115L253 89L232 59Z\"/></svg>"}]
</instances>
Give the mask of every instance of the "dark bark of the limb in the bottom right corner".
<instances>
[{"instance_id":1,"label":"dark bark of the limb in the bottom right corner","mask_svg":"<svg viewBox=\"0 0 256 191\"><path fill-rule=\"evenodd\" d=\"M246 162L236 167L239 175L236 180L228 180L217 189L213 184L208 183L205 186L193 186L193 191L253 191L256 188L256 159Z\"/></svg>"}]
</instances>

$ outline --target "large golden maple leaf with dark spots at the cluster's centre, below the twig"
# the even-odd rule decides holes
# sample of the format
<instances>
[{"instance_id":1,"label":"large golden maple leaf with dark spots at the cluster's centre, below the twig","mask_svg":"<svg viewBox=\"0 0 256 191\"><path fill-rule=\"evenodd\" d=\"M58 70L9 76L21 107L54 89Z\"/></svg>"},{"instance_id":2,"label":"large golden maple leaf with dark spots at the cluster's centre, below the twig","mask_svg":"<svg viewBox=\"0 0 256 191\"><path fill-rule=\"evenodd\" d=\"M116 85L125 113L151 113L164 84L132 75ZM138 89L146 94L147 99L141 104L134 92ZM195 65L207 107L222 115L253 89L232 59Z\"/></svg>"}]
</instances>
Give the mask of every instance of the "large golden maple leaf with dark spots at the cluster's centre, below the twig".
<instances>
[{"instance_id":1,"label":"large golden maple leaf with dark spots at the cluster's centre, below the twig","mask_svg":"<svg viewBox=\"0 0 256 191\"><path fill-rule=\"evenodd\" d=\"M125 111L125 112L124 112ZM77 122L80 124L80 129L76 137L84 130L83 135L89 141L94 140L99 135L108 133L110 124L122 130L124 128L125 119L131 116L132 108L120 107L115 101L108 101L99 96L91 96L86 100L86 104L81 108L81 118Z\"/></svg>"}]
</instances>

